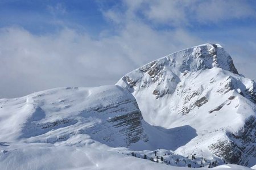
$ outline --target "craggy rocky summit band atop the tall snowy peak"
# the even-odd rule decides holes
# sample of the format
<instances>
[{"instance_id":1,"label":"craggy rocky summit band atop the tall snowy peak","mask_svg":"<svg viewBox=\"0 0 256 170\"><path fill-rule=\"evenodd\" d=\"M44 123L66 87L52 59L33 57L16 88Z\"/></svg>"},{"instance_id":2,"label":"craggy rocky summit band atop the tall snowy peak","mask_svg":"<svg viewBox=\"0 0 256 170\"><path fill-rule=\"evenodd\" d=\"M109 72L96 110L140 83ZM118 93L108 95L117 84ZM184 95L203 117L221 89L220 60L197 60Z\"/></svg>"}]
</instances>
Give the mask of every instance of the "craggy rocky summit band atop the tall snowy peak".
<instances>
[{"instance_id":1,"label":"craggy rocky summit band atop the tall snowy peak","mask_svg":"<svg viewBox=\"0 0 256 170\"><path fill-rule=\"evenodd\" d=\"M238 74L230 55L219 44L203 44L157 59L123 76L117 83L130 92L154 84L156 99L172 94L188 73L218 67Z\"/></svg>"}]
</instances>

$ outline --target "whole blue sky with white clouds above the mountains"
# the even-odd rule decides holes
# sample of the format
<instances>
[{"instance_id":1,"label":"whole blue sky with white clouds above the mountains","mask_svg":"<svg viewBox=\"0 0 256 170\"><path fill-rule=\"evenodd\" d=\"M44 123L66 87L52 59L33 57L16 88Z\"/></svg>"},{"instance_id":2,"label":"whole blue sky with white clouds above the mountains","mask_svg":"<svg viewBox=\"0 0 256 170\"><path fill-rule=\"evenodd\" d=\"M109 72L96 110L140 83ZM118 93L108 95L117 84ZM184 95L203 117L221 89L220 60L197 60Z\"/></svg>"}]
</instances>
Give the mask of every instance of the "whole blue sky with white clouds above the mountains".
<instances>
[{"instance_id":1,"label":"whole blue sky with white clouds above the mountains","mask_svg":"<svg viewBox=\"0 0 256 170\"><path fill-rule=\"evenodd\" d=\"M0 98L114 84L180 49L219 43L256 80L256 1L0 0Z\"/></svg>"}]
</instances>

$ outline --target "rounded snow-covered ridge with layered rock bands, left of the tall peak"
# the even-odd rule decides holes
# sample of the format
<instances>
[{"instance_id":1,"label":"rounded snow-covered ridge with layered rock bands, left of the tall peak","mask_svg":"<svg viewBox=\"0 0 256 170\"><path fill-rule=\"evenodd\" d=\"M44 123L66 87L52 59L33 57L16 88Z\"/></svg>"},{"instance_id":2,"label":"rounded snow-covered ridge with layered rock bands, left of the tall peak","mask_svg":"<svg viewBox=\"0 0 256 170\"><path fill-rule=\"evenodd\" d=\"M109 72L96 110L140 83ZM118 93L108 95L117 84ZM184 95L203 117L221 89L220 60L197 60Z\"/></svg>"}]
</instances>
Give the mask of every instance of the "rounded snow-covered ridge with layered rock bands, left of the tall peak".
<instances>
[{"instance_id":1,"label":"rounded snow-covered ridge with layered rock bands, left of the tall peak","mask_svg":"<svg viewBox=\"0 0 256 170\"><path fill-rule=\"evenodd\" d=\"M0 141L57 143L81 135L114 147L148 141L136 100L117 86L57 88L0 105L1 116L9 115L0 120Z\"/></svg>"}]
</instances>

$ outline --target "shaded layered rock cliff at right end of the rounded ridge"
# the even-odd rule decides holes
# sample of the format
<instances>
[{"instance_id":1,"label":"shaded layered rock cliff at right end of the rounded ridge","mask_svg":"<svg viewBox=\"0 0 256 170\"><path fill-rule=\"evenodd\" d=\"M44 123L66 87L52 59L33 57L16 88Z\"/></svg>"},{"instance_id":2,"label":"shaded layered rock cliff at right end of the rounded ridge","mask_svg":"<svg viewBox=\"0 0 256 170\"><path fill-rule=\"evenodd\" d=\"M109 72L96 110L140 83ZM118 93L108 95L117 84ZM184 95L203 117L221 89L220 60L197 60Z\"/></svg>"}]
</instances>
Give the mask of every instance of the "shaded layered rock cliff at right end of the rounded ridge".
<instances>
[{"instance_id":1,"label":"shaded layered rock cliff at right end of the rounded ridge","mask_svg":"<svg viewBox=\"0 0 256 170\"><path fill-rule=\"evenodd\" d=\"M100 124L79 130L82 134L89 134L96 141L119 147L129 147L139 141L148 141L142 126L142 114L135 100L123 100L105 107L87 109L80 115L85 116L88 113L93 113L96 117L100 117L100 114L108 115Z\"/></svg>"}]
</instances>

